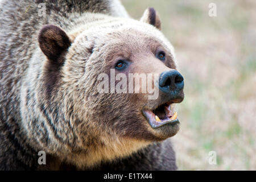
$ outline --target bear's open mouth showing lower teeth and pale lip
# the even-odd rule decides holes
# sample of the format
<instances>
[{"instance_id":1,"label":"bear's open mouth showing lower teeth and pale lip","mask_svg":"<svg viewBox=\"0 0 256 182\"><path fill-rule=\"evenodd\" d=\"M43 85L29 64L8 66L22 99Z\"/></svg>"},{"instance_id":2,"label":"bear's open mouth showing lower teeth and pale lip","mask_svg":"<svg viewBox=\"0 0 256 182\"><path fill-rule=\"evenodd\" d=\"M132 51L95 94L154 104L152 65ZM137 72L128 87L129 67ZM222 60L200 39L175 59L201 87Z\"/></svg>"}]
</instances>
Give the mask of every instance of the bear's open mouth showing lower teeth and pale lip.
<instances>
[{"instance_id":1,"label":"bear's open mouth showing lower teeth and pale lip","mask_svg":"<svg viewBox=\"0 0 256 182\"><path fill-rule=\"evenodd\" d=\"M160 127L167 123L179 123L177 112L172 110L171 104L168 102L158 106L154 110L144 109L142 112L152 128Z\"/></svg>"}]
</instances>

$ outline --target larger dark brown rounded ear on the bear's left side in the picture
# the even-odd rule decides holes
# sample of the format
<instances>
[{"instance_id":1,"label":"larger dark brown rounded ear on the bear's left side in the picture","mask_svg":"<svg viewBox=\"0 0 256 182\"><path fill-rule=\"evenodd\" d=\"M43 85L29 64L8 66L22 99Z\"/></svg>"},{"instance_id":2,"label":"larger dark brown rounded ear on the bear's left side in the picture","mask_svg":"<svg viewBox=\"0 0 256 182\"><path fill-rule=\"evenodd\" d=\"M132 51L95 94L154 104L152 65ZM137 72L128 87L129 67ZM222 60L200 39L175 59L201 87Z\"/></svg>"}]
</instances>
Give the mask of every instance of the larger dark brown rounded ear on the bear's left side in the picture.
<instances>
[{"instance_id":1,"label":"larger dark brown rounded ear on the bear's left side in the picture","mask_svg":"<svg viewBox=\"0 0 256 182\"><path fill-rule=\"evenodd\" d=\"M49 60L56 61L56 63L61 53L71 46L71 40L68 35L60 27L52 24L48 24L40 30L38 42L44 55Z\"/></svg>"}]
</instances>

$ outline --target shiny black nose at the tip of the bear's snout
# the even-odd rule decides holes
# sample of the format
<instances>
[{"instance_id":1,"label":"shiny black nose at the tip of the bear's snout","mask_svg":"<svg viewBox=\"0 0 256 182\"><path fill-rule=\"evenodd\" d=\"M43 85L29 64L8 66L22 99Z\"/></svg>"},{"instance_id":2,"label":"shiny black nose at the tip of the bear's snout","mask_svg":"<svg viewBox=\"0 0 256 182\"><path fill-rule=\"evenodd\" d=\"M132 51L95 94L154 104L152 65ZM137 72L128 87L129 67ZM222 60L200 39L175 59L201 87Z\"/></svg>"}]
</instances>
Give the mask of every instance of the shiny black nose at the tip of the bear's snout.
<instances>
[{"instance_id":1,"label":"shiny black nose at the tip of the bear's snout","mask_svg":"<svg viewBox=\"0 0 256 182\"><path fill-rule=\"evenodd\" d=\"M159 89L167 94L177 93L184 88L183 80L183 76L175 69L163 72L159 77Z\"/></svg>"}]
</instances>

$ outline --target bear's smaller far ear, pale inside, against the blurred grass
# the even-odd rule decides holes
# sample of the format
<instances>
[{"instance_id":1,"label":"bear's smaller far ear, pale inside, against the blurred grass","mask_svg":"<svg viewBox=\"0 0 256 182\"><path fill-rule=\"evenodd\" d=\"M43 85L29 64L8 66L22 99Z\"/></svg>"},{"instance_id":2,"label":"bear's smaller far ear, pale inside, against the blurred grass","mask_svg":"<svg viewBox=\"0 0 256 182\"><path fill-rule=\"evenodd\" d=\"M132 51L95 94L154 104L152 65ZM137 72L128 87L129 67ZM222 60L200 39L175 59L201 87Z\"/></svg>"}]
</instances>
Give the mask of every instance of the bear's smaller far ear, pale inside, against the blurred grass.
<instances>
[{"instance_id":1,"label":"bear's smaller far ear, pale inside, against the blurred grass","mask_svg":"<svg viewBox=\"0 0 256 182\"><path fill-rule=\"evenodd\" d=\"M152 26L155 26L156 28L161 30L161 20L159 18L158 13L152 7L149 7L144 11L141 21L152 24Z\"/></svg>"}]
</instances>

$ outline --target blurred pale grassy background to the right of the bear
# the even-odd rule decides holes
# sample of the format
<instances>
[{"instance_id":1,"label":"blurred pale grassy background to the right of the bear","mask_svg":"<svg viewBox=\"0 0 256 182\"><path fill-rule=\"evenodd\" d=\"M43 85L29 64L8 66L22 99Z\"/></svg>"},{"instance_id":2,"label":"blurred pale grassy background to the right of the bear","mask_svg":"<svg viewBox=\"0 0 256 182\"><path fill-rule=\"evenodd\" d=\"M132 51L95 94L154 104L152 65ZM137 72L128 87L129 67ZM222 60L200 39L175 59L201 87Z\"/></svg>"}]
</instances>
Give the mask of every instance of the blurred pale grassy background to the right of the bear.
<instances>
[{"instance_id":1,"label":"blurred pale grassy background to the right of the bear","mask_svg":"<svg viewBox=\"0 0 256 182\"><path fill-rule=\"evenodd\" d=\"M212 2L217 17L208 15ZM175 47L185 78L181 130L173 137L179 169L256 170L256 1L122 3L135 19L154 7Z\"/></svg>"}]
</instances>

